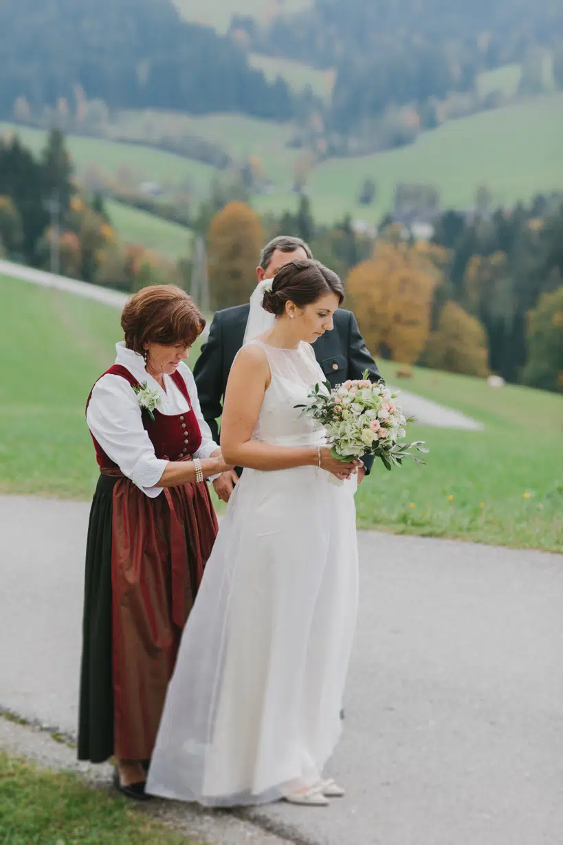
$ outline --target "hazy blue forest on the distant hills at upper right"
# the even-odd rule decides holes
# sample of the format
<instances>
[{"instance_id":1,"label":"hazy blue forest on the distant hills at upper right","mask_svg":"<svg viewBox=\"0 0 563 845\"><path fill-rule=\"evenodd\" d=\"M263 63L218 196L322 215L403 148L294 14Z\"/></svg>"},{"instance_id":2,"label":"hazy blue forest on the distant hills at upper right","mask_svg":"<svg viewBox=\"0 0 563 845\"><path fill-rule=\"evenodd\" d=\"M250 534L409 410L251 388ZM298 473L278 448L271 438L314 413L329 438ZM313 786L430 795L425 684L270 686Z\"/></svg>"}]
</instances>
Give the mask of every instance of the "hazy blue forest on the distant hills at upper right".
<instances>
[{"instance_id":1,"label":"hazy blue forest on the distant hills at upper right","mask_svg":"<svg viewBox=\"0 0 563 845\"><path fill-rule=\"evenodd\" d=\"M440 101L473 92L478 74L507 63L523 63L527 93L538 93L542 72L534 74L534 57L542 48L554 52L563 88L563 7L555 0L314 0L265 24L233 16L231 29L243 31L258 52L335 69L330 105L314 104L329 139L373 134L386 112L405 106L413 107L420 128L432 128ZM390 114L386 123L391 127L378 129L385 144L409 142L408 125ZM337 139L329 143L339 150Z\"/></svg>"}]
</instances>

